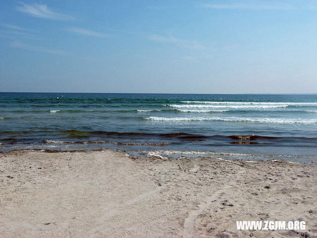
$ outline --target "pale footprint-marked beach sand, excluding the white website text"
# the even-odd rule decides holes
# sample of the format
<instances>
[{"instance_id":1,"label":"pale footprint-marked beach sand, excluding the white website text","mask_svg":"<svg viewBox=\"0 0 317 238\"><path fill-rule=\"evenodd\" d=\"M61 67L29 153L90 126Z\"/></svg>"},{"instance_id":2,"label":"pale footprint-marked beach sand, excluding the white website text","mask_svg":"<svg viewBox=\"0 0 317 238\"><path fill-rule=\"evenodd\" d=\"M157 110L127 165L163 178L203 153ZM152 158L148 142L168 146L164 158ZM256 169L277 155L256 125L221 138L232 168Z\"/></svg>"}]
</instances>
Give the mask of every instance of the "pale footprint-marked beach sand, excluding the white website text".
<instances>
[{"instance_id":1,"label":"pale footprint-marked beach sand, excluding the white website text","mask_svg":"<svg viewBox=\"0 0 317 238\"><path fill-rule=\"evenodd\" d=\"M238 231L248 220L306 231ZM317 237L317 165L2 153L0 237Z\"/></svg>"}]
</instances>

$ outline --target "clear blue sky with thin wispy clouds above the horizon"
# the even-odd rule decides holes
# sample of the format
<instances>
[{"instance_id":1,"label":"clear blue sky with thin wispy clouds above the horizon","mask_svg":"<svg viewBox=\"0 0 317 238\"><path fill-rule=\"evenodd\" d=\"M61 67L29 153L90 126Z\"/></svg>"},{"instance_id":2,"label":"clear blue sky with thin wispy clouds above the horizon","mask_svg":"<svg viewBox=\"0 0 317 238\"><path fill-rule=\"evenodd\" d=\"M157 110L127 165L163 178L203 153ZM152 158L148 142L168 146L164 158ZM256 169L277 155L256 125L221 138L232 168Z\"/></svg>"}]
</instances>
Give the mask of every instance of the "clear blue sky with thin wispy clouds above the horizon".
<instances>
[{"instance_id":1,"label":"clear blue sky with thin wispy clouds above the horizon","mask_svg":"<svg viewBox=\"0 0 317 238\"><path fill-rule=\"evenodd\" d=\"M4 0L0 92L317 93L317 0Z\"/></svg>"}]
</instances>

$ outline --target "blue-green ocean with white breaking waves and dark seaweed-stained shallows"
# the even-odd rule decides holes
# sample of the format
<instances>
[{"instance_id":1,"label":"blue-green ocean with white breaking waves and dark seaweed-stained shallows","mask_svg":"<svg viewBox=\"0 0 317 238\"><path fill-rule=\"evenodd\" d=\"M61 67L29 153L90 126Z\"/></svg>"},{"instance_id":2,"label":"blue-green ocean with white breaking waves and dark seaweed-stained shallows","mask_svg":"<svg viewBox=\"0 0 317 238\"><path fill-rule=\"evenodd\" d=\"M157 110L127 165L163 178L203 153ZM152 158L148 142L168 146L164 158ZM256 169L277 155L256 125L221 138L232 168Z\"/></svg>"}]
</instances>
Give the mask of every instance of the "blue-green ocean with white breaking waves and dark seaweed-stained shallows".
<instances>
[{"instance_id":1,"label":"blue-green ocean with white breaking waves and dark seaweed-stained shallows","mask_svg":"<svg viewBox=\"0 0 317 238\"><path fill-rule=\"evenodd\" d=\"M0 151L317 161L317 95L0 93Z\"/></svg>"}]
</instances>

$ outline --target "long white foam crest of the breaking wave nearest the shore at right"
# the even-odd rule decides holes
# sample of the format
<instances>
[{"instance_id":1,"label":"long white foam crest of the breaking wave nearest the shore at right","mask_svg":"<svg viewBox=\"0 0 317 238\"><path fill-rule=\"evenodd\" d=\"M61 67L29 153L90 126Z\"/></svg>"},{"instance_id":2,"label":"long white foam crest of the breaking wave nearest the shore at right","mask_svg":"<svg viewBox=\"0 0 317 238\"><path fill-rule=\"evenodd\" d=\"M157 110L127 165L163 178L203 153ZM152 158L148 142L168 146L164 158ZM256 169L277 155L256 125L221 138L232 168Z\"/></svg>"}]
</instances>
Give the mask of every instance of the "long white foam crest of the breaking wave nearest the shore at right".
<instances>
[{"instance_id":1,"label":"long white foam crest of the breaking wave nearest the shore at right","mask_svg":"<svg viewBox=\"0 0 317 238\"><path fill-rule=\"evenodd\" d=\"M298 124L313 124L317 123L317 119L280 119L280 118L238 118L238 117L194 117L194 118L163 118L163 117L147 117L147 120L157 121L237 121L237 122L260 122L260 123L298 123Z\"/></svg>"}]
</instances>

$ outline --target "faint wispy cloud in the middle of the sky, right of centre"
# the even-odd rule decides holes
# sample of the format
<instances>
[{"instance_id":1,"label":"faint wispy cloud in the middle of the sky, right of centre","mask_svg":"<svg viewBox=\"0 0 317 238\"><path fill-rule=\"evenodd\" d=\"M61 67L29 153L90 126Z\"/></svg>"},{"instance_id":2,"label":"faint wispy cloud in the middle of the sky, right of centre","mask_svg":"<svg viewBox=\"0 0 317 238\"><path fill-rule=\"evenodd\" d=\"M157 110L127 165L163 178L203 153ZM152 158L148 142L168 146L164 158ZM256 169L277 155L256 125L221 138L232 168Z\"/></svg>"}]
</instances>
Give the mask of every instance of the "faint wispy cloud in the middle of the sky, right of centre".
<instances>
[{"instance_id":1,"label":"faint wispy cloud in the middle of the sky, right of centre","mask_svg":"<svg viewBox=\"0 0 317 238\"><path fill-rule=\"evenodd\" d=\"M160 35L150 35L148 36L148 39L152 41L156 41L156 42L161 42L161 43L174 44L178 47L186 48L186 49L193 49L193 50L206 49L204 46L198 44L196 41L181 40L181 39L177 39L176 37L172 35L169 37L163 37Z\"/></svg>"}]
</instances>

